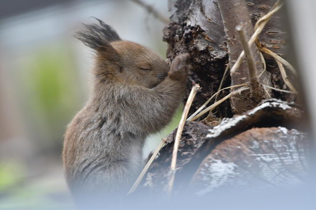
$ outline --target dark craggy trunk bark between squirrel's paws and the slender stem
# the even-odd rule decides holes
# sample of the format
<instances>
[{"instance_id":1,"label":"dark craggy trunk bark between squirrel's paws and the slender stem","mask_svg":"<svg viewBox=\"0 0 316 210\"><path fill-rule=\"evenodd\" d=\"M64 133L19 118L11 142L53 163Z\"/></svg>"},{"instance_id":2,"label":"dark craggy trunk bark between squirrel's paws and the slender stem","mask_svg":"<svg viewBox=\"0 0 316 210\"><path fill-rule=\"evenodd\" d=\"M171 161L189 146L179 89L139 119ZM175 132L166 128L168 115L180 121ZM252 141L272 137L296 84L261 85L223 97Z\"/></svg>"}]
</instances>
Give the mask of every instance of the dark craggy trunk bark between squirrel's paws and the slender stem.
<instances>
[{"instance_id":1,"label":"dark craggy trunk bark between squirrel's paws and the slender stem","mask_svg":"<svg viewBox=\"0 0 316 210\"><path fill-rule=\"evenodd\" d=\"M164 29L164 41L168 43L167 58L173 60L182 52L191 57L189 80L199 83L189 115L196 111L218 90L228 60L225 32L221 14L213 1L169 1L171 22ZM227 79L228 86L230 79ZM190 93L188 83L187 94ZM224 91L228 94L228 91ZM232 116L229 101L221 108L223 116Z\"/></svg>"}]
</instances>

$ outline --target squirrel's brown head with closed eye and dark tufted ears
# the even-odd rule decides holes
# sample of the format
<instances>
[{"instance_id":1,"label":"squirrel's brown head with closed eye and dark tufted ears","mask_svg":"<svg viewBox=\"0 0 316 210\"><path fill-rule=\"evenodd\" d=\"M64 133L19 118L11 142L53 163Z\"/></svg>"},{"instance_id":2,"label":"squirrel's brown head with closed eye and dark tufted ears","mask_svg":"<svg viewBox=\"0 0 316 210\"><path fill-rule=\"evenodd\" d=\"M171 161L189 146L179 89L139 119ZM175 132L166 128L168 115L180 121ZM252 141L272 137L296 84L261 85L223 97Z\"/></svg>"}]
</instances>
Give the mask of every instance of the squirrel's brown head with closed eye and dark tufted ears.
<instances>
[{"instance_id":1,"label":"squirrel's brown head with closed eye and dark tufted ears","mask_svg":"<svg viewBox=\"0 0 316 210\"><path fill-rule=\"evenodd\" d=\"M98 20L98 19L96 19ZM94 74L98 82L123 82L153 88L169 71L167 62L155 51L123 41L110 26L85 25L74 36L96 52Z\"/></svg>"}]
</instances>

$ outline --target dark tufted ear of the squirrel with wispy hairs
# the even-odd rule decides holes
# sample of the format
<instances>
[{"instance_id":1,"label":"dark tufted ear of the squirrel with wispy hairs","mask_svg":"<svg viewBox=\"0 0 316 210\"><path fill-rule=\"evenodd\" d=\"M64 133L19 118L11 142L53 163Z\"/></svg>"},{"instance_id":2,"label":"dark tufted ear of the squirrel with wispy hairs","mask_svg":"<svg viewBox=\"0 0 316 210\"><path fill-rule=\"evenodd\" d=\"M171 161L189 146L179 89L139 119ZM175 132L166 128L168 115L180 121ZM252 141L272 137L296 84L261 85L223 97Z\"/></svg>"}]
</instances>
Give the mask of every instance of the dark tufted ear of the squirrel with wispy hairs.
<instances>
[{"instance_id":1,"label":"dark tufted ear of the squirrel with wispy hairs","mask_svg":"<svg viewBox=\"0 0 316 210\"><path fill-rule=\"evenodd\" d=\"M96 18L95 18L96 19ZM83 42L84 45L94 49L97 53L106 56L106 59L117 59L119 53L112 47L110 42L119 41L121 38L112 29L99 19L100 25L82 24L83 27L73 33L73 36Z\"/></svg>"}]
</instances>

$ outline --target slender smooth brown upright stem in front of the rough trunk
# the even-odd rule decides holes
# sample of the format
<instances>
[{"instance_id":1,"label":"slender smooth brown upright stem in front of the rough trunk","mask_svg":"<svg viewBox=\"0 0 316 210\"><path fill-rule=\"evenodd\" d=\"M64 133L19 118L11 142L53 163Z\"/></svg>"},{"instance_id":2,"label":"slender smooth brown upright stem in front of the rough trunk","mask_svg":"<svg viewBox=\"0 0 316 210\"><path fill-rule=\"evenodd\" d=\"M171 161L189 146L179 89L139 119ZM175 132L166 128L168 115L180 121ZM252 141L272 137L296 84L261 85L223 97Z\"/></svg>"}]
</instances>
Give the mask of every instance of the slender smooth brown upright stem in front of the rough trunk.
<instances>
[{"instance_id":1,"label":"slender smooth brown upright stem in front of the rough trunk","mask_svg":"<svg viewBox=\"0 0 316 210\"><path fill-rule=\"evenodd\" d=\"M236 26L243 26L247 40L250 39L254 32L253 26L245 0L218 0L218 5L222 14L224 31L228 43L229 65L232 67L238 59L240 53L243 51L239 39L240 37L236 31ZM250 50L256 64L256 68L258 69L257 76L259 76L260 72L263 71L264 68L259 50L255 43L252 44ZM236 74L231 74L231 80L232 86L249 82L248 66L245 61L241 63ZM267 71L264 72L262 77L260 77L260 82L271 86L270 73ZM263 91L258 94L260 94L260 100L263 99ZM250 92L247 90L241 92L239 96L231 97L232 108L235 114L241 114L254 108L260 100L250 97Z\"/></svg>"}]
</instances>

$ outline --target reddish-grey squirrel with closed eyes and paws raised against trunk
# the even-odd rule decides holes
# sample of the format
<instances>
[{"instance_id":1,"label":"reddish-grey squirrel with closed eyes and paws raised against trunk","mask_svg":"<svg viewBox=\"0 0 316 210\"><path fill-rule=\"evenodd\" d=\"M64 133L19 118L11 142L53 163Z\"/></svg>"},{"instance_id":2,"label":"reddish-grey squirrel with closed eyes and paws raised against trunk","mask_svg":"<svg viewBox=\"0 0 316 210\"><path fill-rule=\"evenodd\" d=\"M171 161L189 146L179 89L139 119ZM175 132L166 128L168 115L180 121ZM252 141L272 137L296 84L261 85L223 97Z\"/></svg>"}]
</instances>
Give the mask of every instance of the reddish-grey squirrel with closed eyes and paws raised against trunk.
<instances>
[{"instance_id":1,"label":"reddish-grey squirrel with closed eyes and paws raised against trunk","mask_svg":"<svg viewBox=\"0 0 316 210\"><path fill-rule=\"evenodd\" d=\"M160 54L122 40L96 20L74 34L95 52L92 95L64 136L65 178L75 200L126 195L142 170L145 138L171 121L189 68L188 54L169 66Z\"/></svg>"}]
</instances>

